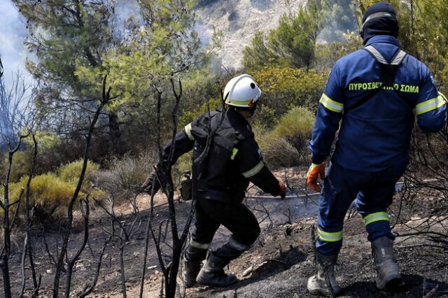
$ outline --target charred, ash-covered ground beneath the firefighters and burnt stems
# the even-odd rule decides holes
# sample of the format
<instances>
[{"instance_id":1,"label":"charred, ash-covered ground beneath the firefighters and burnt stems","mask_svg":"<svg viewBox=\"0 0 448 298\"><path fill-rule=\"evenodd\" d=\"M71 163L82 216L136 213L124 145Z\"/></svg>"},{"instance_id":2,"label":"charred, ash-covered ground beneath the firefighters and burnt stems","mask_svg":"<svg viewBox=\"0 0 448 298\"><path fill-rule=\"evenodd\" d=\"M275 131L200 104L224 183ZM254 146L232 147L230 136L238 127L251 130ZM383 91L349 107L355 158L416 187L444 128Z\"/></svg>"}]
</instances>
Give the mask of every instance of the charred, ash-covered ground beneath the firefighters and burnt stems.
<instances>
[{"instance_id":1,"label":"charred, ash-covered ground beneath the firefighters and burnt stems","mask_svg":"<svg viewBox=\"0 0 448 298\"><path fill-rule=\"evenodd\" d=\"M290 185L302 185L304 169L290 169L286 172ZM298 173L298 174L297 174ZM282 178L285 172L279 173ZM239 282L230 288L213 288L195 285L183 289L179 279L180 295L186 297L313 297L307 292L307 279L314 274L314 252L311 245L311 232L316 225L316 195L307 194L302 187L293 187L287 199L275 199L258 192L253 187L250 196L258 196L246 200L246 204L257 215L262 234L258 241L241 257L230 263L226 271L237 275ZM298 196L297 196L298 194ZM115 237L107 246L103 257L99 281L88 297L123 297L120 269L120 246L124 248L125 285L127 297L139 297L140 279L144 256L146 221L148 220L148 197L139 197L139 214L137 220L130 213L129 204L116 207L121 214L120 221L125 229L130 230L134 222L134 234L129 241L122 242ZM167 205L162 195L156 197L155 220L164 227L167 218ZM189 202L176 201L176 215L179 228L190 208ZM395 208L395 207L393 207ZM265 210L269 210L266 213ZM419 239L398 237L395 241L395 252L405 285L397 292L377 290L374 285L375 271L372 262L370 243L366 239L363 222L359 215L346 218L344 225L344 246L339 255L336 275L343 292L341 297L425 297L430 290L437 288L435 294L428 297L448 297L448 262L447 253L442 250L421 246ZM135 220L135 221L134 221ZM395 225L394 232L402 234L408 229L405 222ZM78 297L85 285L91 283L98 263L99 251L109 237L111 220L101 208L92 210L90 223L90 240L87 248L80 255L73 270L72 290L70 297ZM446 233L446 231L444 231ZM43 237L45 236L45 237ZM220 246L227 241L229 232L219 229L213 246ZM69 255L73 255L80 246L83 232L73 234L69 245ZM43 241L46 239L46 241ZM11 280L15 297L18 296L22 283L20 259L23 237L14 235L15 247L10 260ZM168 239L169 240L169 239ZM60 246L59 233L52 229L46 232L35 232L33 237L34 261L36 270L42 276L40 297L51 297L52 281L55 267L45 248L54 252ZM168 252L165 248L165 252ZM52 257L55 257L53 255ZM169 261L169 256L162 256ZM159 297L162 273L157 253L151 241L146 264L143 297ZM27 285L25 297L30 297L32 283L29 280L29 265L26 266ZM59 296L63 295L64 277ZM185 290L185 292L184 292Z\"/></svg>"}]
</instances>

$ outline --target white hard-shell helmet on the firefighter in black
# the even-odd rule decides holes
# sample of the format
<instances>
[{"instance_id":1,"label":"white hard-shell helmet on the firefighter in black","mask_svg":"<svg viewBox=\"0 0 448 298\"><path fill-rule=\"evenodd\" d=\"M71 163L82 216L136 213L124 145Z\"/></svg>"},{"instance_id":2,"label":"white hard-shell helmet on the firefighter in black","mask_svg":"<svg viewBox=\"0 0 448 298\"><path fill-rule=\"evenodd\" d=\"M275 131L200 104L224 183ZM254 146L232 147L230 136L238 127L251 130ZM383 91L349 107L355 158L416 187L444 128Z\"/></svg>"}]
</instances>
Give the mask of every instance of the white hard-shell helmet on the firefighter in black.
<instances>
[{"instance_id":1,"label":"white hard-shell helmet on the firefighter in black","mask_svg":"<svg viewBox=\"0 0 448 298\"><path fill-rule=\"evenodd\" d=\"M224 100L230 106L251 108L260 95L260 88L248 74L232 78L224 88Z\"/></svg>"}]
</instances>

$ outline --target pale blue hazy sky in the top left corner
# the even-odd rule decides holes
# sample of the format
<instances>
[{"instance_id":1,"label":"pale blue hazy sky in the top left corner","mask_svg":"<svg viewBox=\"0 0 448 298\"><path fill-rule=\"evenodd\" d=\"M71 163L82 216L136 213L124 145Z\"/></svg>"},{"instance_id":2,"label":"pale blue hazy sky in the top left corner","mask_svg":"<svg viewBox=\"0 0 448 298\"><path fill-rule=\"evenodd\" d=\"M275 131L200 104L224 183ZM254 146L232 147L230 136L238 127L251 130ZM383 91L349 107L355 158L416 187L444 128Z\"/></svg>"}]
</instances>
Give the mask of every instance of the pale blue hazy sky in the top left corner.
<instances>
[{"instance_id":1,"label":"pale blue hazy sky in the top left corner","mask_svg":"<svg viewBox=\"0 0 448 298\"><path fill-rule=\"evenodd\" d=\"M25 22L10 0L0 0L0 57L6 88L12 84L17 71L22 73L27 83L33 82L25 69L27 57L32 57L24 45L27 38Z\"/></svg>"}]
</instances>

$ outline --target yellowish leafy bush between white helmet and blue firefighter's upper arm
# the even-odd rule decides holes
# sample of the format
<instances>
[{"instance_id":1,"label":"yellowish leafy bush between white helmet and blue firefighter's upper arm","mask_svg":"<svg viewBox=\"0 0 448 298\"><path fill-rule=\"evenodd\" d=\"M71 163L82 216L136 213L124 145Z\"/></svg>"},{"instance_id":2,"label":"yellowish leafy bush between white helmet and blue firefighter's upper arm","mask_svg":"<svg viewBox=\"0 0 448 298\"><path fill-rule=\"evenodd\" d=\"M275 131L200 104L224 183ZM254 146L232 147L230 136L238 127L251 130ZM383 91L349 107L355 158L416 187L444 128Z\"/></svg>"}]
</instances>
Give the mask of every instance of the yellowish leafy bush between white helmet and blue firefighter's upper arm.
<instances>
[{"instance_id":1,"label":"yellowish leafy bush between white helmet and blue firefighter's upper arm","mask_svg":"<svg viewBox=\"0 0 448 298\"><path fill-rule=\"evenodd\" d=\"M260 111L255 112L255 122L272 127L278 122L279 115L295 106L315 111L327 76L327 73L293 68L266 67L255 71L253 77L262 90L262 106Z\"/></svg>"}]
</instances>

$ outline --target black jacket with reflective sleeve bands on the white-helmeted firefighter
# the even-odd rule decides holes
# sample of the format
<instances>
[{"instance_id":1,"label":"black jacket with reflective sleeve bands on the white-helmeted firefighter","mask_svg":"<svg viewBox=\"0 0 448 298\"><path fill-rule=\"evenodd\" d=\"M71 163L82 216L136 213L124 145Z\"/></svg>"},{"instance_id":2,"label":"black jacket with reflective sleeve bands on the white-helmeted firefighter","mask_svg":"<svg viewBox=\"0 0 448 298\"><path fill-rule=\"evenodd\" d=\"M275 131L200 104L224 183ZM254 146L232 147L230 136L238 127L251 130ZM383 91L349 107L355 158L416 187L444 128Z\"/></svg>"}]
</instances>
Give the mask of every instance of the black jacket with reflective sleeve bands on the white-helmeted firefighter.
<instances>
[{"instance_id":1,"label":"black jacket with reflective sleeve bands on the white-helmeted firefighter","mask_svg":"<svg viewBox=\"0 0 448 298\"><path fill-rule=\"evenodd\" d=\"M194 149L197 197L239 204L249 181L274 196L280 192L279 181L265 165L251 126L232 109L201 115L176 134L174 142L172 164ZM169 141L164 148L165 162L172 146Z\"/></svg>"}]
</instances>

